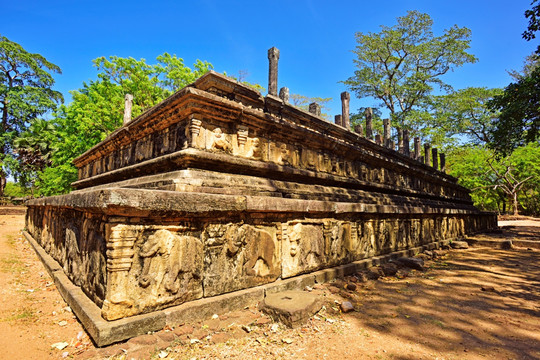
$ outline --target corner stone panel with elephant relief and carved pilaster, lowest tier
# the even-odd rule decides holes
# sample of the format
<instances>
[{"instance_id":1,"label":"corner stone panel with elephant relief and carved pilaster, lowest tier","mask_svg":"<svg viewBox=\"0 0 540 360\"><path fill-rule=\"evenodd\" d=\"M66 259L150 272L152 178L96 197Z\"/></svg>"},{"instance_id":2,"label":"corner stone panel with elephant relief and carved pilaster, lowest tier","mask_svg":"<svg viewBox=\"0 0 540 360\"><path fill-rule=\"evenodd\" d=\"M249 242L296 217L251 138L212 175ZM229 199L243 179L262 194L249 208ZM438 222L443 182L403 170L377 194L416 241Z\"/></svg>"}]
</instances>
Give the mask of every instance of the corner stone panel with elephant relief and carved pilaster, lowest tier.
<instances>
[{"instance_id":1,"label":"corner stone panel with elephant relief and carved pilaster, lowest tier","mask_svg":"<svg viewBox=\"0 0 540 360\"><path fill-rule=\"evenodd\" d=\"M111 226L107 241L107 320L199 299L203 245L177 227Z\"/></svg>"}]
</instances>

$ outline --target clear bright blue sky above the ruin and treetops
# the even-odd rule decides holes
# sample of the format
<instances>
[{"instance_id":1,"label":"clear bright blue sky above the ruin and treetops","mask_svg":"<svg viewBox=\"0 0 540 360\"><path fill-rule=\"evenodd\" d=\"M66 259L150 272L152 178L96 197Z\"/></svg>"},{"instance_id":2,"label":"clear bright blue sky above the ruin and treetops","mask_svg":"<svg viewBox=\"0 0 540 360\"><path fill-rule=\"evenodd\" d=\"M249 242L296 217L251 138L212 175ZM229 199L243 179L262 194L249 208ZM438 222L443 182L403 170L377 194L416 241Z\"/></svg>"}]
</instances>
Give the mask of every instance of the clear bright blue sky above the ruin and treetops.
<instances>
[{"instance_id":1,"label":"clear bright blue sky above the ruin and treetops","mask_svg":"<svg viewBox=\"0 0 540 360\"><path fill-rule=\"evenodd\" d=\"M145 58L163 52L187 65L211 62L216 71L267 87L267 49L280 49L279 87L306 96L331 97L341 112L339 81L353 74L356 32L378 32L408 10L428 13L435 35L454 24L472 31L478 57L445 75L454 88L504 87L506 70L521 69L537 42L526 42L523 13L530 0L492 1L7 1L0 0L0 34L59 65L56 90L65 94L96 78L92 59ZM7 15L7 16L6 16ZM351 110L376 105L351 96Z\"/></svg>"}]
</instances>

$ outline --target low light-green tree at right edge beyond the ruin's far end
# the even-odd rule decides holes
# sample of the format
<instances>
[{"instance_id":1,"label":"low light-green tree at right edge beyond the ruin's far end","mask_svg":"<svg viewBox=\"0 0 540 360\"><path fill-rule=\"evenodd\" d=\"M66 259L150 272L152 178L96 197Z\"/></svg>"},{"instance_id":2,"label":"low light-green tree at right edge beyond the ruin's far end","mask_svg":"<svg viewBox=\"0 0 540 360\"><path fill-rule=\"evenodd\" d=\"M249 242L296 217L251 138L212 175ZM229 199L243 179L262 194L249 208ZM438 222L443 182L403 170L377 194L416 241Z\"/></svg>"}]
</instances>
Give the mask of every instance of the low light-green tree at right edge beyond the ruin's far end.
<instances>
[{"instance_id":1,"label":"low light-green tree at right edge beyond the ruin's far end","mask_svg":"<svg viewBox=\"0 0 540 360\"><path fill-rule=\"evenodd\" d=\"M481 146L456 148L448 155L449 173L472 190L476 206L506 212L540 214L540 146L530 143L497 157Z\"/></svg>"}]
</instances>

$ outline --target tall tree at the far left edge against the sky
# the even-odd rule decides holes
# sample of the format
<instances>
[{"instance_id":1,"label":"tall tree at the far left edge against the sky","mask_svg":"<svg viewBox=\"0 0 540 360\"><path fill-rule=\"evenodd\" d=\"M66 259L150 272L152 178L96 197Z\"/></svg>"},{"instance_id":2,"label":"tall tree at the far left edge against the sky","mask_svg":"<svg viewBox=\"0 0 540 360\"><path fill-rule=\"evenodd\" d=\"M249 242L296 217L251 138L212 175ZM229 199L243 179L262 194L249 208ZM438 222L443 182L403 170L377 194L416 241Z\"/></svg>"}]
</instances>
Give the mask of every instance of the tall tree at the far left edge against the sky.
<instances>
[{"instance_id":1,"label":"tall tree at the far left edge against the sky","mask_svg":"<svg viewBox=\"0 0 540 360\"><path fill-rule=\"evenodd\" d=\"M60 74L60 68L0 36L0 196L9 173L24 176L13 142L32 121L63 101L62 94L52 90L51 73Z\"/></svg>"}]
</instances>

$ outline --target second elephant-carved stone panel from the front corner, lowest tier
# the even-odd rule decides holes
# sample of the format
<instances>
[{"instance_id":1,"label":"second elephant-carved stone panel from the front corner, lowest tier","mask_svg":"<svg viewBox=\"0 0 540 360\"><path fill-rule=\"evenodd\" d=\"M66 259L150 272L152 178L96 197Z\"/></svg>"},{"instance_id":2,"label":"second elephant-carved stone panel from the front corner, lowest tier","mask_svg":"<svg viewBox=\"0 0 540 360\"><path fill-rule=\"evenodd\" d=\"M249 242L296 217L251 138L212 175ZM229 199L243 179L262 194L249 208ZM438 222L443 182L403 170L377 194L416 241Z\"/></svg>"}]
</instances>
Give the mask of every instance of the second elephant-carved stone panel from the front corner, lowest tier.
<instances>
[{"instance_id":1,"label":"second elephant-carved stone panel from the front corner, lowest tier","mask_svg":"<svg viewBox=\"0 0 540 360\"><path fill-rule=\"evenodd\" d=\"M280 275L275 226L208 224L203 240L204 296L266 284Z\"/></svg>"}]
</instances>

